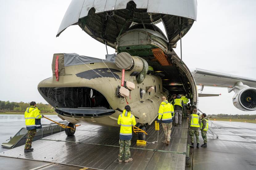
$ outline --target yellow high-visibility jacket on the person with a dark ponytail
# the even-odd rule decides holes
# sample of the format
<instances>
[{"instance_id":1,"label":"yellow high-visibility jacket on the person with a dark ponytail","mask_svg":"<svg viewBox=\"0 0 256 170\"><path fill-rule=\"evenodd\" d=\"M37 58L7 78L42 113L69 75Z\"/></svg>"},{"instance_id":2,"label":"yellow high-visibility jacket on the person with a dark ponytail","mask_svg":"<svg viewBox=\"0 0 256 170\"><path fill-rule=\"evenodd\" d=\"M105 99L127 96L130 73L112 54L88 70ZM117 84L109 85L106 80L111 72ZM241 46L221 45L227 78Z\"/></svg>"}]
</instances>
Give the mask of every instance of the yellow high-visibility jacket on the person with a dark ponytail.
<instances>
[{"instance_id":1,"label":"yellow high-visibility jacket on the person with a dark ponytail","mask_svg":"<svg viewBox=\"0 0 256 170\"><path fill-rule=\"evenodd\" d=\"M118 117L118 125L121 125L120 135L132 135L132 125L136 125L134 115L124 109L123 113Z\"/></svg>"}]
</instances>

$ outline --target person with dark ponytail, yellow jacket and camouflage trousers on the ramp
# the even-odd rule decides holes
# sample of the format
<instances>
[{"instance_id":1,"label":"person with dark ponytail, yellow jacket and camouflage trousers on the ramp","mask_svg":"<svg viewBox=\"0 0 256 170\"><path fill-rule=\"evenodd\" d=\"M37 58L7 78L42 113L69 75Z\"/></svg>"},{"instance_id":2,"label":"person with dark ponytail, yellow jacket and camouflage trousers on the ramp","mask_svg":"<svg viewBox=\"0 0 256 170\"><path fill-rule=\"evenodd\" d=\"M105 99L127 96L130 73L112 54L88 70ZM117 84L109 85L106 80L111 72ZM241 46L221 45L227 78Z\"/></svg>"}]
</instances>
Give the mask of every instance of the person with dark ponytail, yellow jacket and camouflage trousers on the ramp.
<instances>
[{"instance_id":1,"label":"person with dark ponytail, yellow jacket and camouflage trousers on the ramp","mask_svg":"<svg viewBox=\"0 0 256 170\"><path fill-rule=\"evenodd\" d=\"M125 109L122 114L118 117L118 125L120 127L120 149L118 155L118 161L122 162L123 155L125 155L124 162L132 161L131 154L130 154L130 145L131 145L131 138L132 138L132 125L136 125L135 117L131 114L131 108L129 105L125 106Z\"/></svg>"}]
</instances>

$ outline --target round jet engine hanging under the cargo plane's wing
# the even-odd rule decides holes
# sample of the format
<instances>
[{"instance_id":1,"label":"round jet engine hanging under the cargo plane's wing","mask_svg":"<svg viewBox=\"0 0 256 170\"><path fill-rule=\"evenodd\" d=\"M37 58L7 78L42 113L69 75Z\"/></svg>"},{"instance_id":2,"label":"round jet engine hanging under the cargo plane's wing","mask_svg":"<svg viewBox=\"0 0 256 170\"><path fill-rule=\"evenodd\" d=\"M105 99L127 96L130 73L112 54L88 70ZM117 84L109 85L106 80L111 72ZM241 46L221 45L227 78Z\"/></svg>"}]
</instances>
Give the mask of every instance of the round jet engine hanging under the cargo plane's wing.
<instances>
[{"instance_id":1,"label":"round jet engine hanging under the cargo plane's wing","mask_svg":"<svg viewBox=\"0 0 256 170\"><path fill-rule=\"evenodd\" d=\"M233 96L233 104L239 110L256 110L256 89L248 87L238 91Z\"/></svg>"}]
</instances>

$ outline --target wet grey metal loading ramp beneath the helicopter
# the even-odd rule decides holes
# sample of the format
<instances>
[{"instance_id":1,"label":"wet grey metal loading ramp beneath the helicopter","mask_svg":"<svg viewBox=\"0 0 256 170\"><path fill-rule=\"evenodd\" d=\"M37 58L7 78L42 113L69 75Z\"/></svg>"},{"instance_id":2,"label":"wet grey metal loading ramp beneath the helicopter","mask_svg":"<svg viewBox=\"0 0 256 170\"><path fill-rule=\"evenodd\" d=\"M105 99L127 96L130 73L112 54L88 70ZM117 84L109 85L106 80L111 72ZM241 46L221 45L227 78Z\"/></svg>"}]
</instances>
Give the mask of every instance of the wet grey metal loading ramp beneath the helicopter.
<instances>
[{"instance_id":1,"label":"wet grey metal loading ramp beneath the helicopter","mask_svg":"<svg viewBox=\"0 0 256 170\"><path fill-rule=\"evenodd\" d=\"M147 141L157 140L155 125L147 128ZM80 167L118 170L184 170L187 146L188 123L173 126L170 145L161 143L163 128L159 131L156 144L136 145L137 136L130 146L132 162L119 163L119 128L95 125L77 127L74 136L68 137L60 132L32 143L33 152L24 154L24 146L0 153L0 156L41 160Z\"/></svg>"}]
</instances>

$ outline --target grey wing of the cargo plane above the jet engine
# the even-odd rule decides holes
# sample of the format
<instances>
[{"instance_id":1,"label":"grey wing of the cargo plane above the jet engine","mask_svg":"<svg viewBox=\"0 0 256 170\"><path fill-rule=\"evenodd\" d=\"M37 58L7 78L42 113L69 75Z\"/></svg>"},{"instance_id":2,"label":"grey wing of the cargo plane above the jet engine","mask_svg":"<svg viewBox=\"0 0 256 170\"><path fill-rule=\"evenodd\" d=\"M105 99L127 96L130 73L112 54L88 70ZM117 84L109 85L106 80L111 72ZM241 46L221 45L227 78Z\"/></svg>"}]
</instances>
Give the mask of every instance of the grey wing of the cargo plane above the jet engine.
<instances>
[{"instance_id":1,"label":"grey wing of the cargo plane above the jet engine","mask_svg":"<svg viewBox=\"0 0 256 170\"><path fill-rule=\"evenodd\" d=\"M232 88L237 82L242 81L244 85L256 88L256 79L253 78L240 77L198 68L192 69L191 73L196 81L196 85Z\"/></svg>"}]
</instances>

